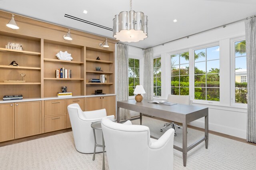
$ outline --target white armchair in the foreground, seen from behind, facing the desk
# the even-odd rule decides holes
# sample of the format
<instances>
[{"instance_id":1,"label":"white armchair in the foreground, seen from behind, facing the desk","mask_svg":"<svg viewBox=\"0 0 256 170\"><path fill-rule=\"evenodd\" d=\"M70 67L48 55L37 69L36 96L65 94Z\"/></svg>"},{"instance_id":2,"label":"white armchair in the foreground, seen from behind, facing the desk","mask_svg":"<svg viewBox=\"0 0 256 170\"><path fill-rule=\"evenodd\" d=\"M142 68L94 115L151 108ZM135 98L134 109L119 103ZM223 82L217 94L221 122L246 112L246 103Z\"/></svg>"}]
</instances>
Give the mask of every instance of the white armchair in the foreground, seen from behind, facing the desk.
<instances>
[{"instance_id":1,"label":"white armchair in the foreground, seen from behind, facing the desk","mask_svg":"<svg viewBox=\"0 0 256 170\"><path fill-rule=\"evenodd\" d=\"M115 123L103 118L102 132L110 170L173 170L174 129L158 140L143 125Z\"/></svg>"}]
</instances>

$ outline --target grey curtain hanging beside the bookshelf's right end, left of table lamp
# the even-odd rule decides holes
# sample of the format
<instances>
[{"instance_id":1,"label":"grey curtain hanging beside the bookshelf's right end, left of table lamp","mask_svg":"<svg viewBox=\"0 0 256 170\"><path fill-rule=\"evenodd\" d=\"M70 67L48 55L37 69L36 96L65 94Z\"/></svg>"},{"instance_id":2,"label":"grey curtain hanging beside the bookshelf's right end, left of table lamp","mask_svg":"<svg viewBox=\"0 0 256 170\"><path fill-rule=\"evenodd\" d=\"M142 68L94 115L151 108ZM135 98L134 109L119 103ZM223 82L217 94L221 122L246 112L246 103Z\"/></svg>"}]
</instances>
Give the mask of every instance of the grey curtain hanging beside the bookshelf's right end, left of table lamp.
<instances>
[{"instance_id":1,"label":"grey curtain hanging beside the bookshelf's right end, left of table lamp","mask_svg":"<svg viewBox=\"0 0 256 170\"><path fill-rule=\"evenodd\" d=\"M117 44L117 101L128 100L128 45ZM127 109L120 108L120 120L130 119Z\"/></svg>"}]
</instances>

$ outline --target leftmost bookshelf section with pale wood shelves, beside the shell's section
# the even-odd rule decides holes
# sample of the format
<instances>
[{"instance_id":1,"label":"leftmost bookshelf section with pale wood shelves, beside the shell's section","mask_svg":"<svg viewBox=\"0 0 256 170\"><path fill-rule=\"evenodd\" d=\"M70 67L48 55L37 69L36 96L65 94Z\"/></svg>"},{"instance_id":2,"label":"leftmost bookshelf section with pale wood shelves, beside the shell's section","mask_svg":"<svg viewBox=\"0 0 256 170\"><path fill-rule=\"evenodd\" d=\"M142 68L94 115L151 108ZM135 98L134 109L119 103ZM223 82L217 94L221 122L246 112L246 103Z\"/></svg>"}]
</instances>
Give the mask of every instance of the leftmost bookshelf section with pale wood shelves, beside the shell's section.
<instances>
[{"instance_id":1,"label":"leftmost bookshelf section with pale wood shelves, beside the shell's section","mask_svg":"<svg viewBox=\"0 0 256 170\"><path fill-rule=\"evenodd\" d=\"M8 42L22 44L24 51L4 48ZM22 94L24 98L40 98L40 39L0 32L0 98L5 95ZM16 61L19 66L9 66ZM26 82L4 82L22 80Z\"/></svg>"}]
</instances>

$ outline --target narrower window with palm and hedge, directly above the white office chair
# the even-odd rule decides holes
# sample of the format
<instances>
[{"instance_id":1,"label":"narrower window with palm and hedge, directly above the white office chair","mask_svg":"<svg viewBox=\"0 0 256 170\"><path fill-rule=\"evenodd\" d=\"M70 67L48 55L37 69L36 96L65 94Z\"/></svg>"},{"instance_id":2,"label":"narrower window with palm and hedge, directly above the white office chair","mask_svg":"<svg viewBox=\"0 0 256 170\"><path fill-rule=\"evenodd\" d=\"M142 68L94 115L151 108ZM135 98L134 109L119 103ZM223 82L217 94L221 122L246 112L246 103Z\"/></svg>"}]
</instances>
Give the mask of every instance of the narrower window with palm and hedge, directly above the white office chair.
<instances>
[{"instance_id":1,"label":"narrower window with palm and hedge, directly above the white office chair","mask_svg":"<svg viewBox=\"0 0 256 170\"><path fill-rule=\"evenodd\" d=\"M189 95L189 53L171 55L171 94Z\"/></svg>"}]
</instances>

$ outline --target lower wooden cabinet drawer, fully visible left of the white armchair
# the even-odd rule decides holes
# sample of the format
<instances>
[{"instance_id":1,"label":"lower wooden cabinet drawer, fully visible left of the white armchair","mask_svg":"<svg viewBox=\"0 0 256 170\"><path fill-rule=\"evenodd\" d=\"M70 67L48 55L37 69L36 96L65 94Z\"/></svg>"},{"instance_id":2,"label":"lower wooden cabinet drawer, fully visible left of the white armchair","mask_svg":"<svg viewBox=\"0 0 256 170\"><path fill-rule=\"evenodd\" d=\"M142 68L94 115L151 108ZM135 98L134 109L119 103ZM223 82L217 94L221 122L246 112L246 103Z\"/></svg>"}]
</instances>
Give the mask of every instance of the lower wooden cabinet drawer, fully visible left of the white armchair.
<instances>
[{"instance_id":1,"label":"lower wooden cabinet drawer, fully visible left of the white armchair","mask_svg":"<svg viewBox=\"0 0 256 170\"><path fill-rule=\"evenodd\" d=\"M66 114L44 118L44 132L58 131L66 129Z\"/></svg>"}]
</instances>

